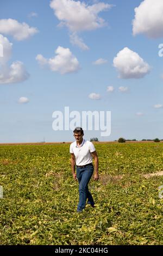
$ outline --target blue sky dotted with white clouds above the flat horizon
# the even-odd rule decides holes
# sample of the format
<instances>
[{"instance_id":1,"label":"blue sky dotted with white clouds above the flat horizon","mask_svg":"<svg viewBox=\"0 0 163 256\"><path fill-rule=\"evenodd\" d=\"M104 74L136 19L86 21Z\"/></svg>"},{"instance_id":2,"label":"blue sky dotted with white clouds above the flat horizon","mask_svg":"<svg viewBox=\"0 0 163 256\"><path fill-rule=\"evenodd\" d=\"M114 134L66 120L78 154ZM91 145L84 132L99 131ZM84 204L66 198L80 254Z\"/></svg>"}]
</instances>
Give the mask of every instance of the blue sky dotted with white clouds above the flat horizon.
<instances>
[{"instance_id":1,"label":"blue sky dotted with white clouds above the flat horizon","mask_svg":"<svg viewBox=\"0 0 163 256\"><path fill-rule=\"evenodd\" d=\"M162 139L161 11L161 0L2 0L0 142L73 141L52 129L65 106L111 111L110 136L87 139Z\"/></svg>"}]
</instances>

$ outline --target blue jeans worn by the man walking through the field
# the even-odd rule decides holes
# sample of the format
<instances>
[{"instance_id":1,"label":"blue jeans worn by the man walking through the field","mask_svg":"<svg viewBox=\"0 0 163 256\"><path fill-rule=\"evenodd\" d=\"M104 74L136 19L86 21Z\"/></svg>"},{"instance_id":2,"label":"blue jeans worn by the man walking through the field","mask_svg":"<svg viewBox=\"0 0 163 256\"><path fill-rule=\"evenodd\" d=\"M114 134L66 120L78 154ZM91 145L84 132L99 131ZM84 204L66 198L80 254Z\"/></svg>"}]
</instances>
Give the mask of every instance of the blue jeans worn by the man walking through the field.
<instances>
[{"instance_id":1,"label":"blue jeans worn by the man walking through the field","mask_svg":"<svg viewBox=\"0 0 163 256\"><path fill-rule=\"evenodd\" d=\"M88 204L94 205L93 197L89 191L88 184L93 174L93 164L84 168L77 167L77 178L79 182L79 204L77 210L85 208L86 199Z\"/></svg>"}]
</instances>

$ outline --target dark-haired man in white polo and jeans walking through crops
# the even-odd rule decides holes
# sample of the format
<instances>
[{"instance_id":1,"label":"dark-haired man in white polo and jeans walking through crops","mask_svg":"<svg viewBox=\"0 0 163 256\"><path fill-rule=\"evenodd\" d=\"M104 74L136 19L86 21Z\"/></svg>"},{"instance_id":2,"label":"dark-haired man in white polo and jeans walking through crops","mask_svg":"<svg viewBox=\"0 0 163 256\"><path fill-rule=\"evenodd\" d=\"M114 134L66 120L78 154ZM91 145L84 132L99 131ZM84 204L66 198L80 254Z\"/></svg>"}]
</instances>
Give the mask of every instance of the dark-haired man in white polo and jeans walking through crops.
<instances>
[{"instance_id":1,"label":"dark-haired man in white polo and jeans walking through crops","mask_svg":"<svg viewBox=\"0 0 163 256\"><path fill-rule=\"evenodd\" d=\"M92 157L95 159L94 180L99 179L98 156L92 142L83 139L84 132L81 127L76 127L73 131L76 141L70 145L71 167L74 180L79 182L79 204L77 212L82 212L87 203L95 207L95 202L89 191L88 184L93 174ZM75 173L75 167L77 174Z\"/></svg>"}]
</instances>

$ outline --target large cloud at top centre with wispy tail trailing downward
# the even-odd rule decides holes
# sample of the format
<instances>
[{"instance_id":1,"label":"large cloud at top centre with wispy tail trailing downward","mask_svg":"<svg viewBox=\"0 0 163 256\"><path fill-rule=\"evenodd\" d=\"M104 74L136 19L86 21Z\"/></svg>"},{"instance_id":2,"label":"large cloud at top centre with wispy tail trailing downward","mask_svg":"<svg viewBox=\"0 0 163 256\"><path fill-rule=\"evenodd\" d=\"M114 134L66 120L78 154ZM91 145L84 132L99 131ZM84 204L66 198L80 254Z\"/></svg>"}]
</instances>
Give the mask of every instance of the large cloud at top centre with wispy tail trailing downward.
<instances>
[{"instance_id":1,"label":"large cloud at top centre with wispy tail trailing downward","mask_svg":"<svg viewBox=\"0 0 163 256\"><path fill-rule=\"evenodd\" d=\"M88 50L83 40L77 36L78 32L92 31L106 26L104 19L98 16L101 11L109 10L112 6L107 3L94 3L89 5L85 2L74 0L52 0L50 7L60 21L59 27L66 26L72 33L70 41L83 50ZM74 34L75 33L75 34Z\"/></svg>"}]
</instances>

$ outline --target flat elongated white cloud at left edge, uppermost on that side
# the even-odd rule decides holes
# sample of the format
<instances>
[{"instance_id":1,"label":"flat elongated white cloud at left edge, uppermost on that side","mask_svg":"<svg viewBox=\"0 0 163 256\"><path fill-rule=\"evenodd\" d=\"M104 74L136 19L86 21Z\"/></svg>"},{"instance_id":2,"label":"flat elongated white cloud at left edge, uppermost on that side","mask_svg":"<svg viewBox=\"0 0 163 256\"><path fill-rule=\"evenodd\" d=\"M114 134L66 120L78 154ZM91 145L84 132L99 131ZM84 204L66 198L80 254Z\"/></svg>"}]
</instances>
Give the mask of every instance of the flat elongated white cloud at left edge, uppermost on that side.
<instances>
[{"instance_id":1,"label":"flat elongated white cloud at left edge, uppermost on that side","mask_svg":"<svg viewBox=\"0 0 163 256\"><path fill-rule=\"evenodd\" d=\"M20 23L14 19L0 20L0 33L12 35L15 40L21 41L39 32L37 28L29 27L25 22Z\"/></svg>"}]
</instances>

